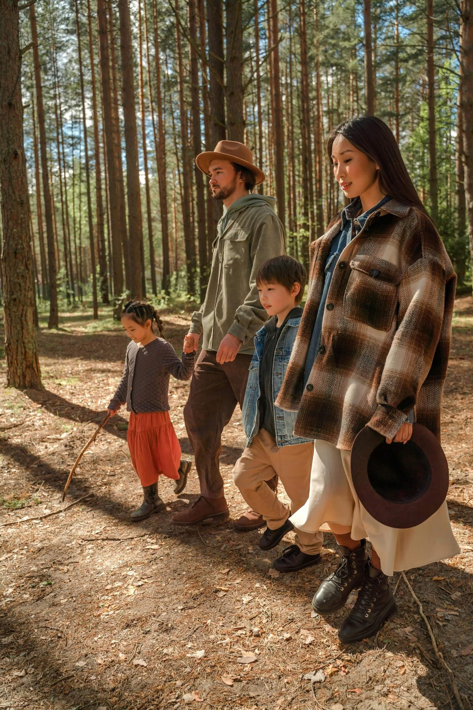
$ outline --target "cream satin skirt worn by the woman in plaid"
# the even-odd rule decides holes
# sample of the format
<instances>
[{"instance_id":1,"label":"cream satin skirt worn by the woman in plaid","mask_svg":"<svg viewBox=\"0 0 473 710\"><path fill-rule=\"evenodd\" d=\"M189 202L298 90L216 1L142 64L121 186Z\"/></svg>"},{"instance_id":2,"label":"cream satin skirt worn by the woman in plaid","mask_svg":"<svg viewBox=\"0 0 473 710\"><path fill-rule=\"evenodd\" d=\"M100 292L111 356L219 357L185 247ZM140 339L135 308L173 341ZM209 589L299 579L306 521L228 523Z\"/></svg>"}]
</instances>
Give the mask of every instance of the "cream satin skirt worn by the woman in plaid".
<instances>
[{"instance_id":1,"label":"cream satin skirt worn by the woman in plaid","mask_svg":"<svg viewBox=\"0 0 473 710\"><path fill-rule=\"evenodd\" d=\"M384 574L423 567L460 552L453 537L447 502L415 528L388 528L374 520L355 493L350 470L350 451L316 439L308 499L291 515L304 532L329 530L328 523L351 525L353 540L369 538L381 559Z\"/></svg>"}]
</instances>

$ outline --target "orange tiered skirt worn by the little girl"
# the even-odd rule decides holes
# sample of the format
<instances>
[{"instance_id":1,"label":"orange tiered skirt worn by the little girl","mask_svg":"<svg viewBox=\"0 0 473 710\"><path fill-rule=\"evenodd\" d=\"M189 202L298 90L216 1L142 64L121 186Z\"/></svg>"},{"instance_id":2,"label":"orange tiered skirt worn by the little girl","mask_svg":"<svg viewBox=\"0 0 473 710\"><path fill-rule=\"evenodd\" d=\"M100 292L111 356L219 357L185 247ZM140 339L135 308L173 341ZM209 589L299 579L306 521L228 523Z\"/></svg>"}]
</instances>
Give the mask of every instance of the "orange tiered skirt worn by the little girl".
<instances>
[{"instance_id":1,"label":"orange tiered skirt worn by the little girl","mask_svg":"<svg viewBox=\"0 0 473 710\"><path fill-rule=\"evenodd\" d=\"M155 484L158 476L177 480L181 447L169 412L130 412L128 449L142 486Z\"/></svg>"}]
</instances>

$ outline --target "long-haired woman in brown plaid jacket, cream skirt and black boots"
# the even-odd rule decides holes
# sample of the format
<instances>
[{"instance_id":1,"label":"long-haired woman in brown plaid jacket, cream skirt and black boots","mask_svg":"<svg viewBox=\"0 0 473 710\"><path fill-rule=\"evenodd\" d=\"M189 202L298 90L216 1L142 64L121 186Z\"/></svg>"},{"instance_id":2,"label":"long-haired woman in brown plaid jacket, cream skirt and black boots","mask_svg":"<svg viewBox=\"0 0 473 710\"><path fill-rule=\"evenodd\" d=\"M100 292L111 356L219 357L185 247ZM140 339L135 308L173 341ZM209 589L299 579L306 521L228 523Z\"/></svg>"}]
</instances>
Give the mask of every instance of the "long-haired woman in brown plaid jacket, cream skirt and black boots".
<instances>
[{"instance_id":1,"label":"long-haired woman in brown plaid jacket, cream skirt and black boots","mask_svg":"<svg viewBox=\"0 0 473 710\"><path fill-rule=\"evenodd\" d=\"M306 532L328 524L342 555L313 608L338 611L361 587L338 633L350 643L394 613L394 570L459 552L446 502L421 525L389 528L363 508L350 471L366 425L388 444L406 442L415 415L440 439L456 277L386 124L345 121L326 145L348 204L311 244L308 297L276 404L298 410L294 435L315 439L308 501L291 522Z\"/></svg>"}]
</instances>

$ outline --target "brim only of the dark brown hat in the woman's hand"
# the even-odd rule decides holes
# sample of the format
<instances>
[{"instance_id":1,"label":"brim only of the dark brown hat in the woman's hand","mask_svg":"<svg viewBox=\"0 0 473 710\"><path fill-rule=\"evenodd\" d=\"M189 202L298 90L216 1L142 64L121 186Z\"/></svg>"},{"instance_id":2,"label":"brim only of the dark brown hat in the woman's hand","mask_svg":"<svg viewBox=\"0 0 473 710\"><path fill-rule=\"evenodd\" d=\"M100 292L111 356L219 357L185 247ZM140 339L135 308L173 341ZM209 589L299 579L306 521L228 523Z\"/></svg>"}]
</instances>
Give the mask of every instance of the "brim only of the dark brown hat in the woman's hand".
<instances>
[{"instance_id":1,"label":"brim only of the dark brown hat in the woman's hand","mask_svg":"<svg viewBox=\"0 0 473 710\"><path fill-rule=\"evenodd\" d=\"M422 450L430 467L430 483L427 490L416 500L403 502L386 500L372 486L369 479L369 457L386 437L365 427L357 435L352 447L352 481L360 503L382 525L389 528L414 528L430 518L443 504L448 492L448 463L440 442L427 427L413 424L413 444ZM404 444L385 444L386 447L404 447ZM402 454L402 449L399 449Z\"/></svg>"}]
</instances>

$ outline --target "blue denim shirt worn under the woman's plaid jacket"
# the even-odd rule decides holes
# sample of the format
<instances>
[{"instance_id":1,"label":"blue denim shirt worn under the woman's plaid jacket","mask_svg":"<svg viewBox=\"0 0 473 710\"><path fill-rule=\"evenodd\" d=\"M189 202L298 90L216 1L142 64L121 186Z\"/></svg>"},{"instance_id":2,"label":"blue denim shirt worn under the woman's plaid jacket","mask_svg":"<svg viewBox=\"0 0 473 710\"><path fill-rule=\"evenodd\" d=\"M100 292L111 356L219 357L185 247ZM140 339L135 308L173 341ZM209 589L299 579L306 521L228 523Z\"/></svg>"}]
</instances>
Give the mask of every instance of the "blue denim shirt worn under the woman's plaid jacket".
<instances>
[{"instance_id":1,"label":"blue denim shirt worn under the woman's plaid jacket","mask_svg":"<svg viewBox=\"0 0 473 710\"><path fill-rule=\"evenodd\" d=\"M336 236L333 237L332 244L330 244L330 251L328 252L327 261L325 261L325 283L323 285L321 305L318 307L316 322L313 326L311 344L308 347L307 359L306 359L306 371L304 374L304 387L307 384L308 378L311 374L313 362L316 359L318 349L321 346L321 334L322 334L322 322L323 314L325 312L325 303L327 301L328 289L330 288L330 282L332 280L333 272L335 271L335 266L337 266L338 257L345 249L347 244L350 244L353 237L358 234L359 231L365 226L365 222L372 212L375 212L382 204L389 202L391 197L386 195L382 200L375 204L371 209L367 209L366 212L360 214L359 217L355 217L350 210L351 205L348 204L341 213L342 226L340 231Z\"/></svg>"}]
</instances>

